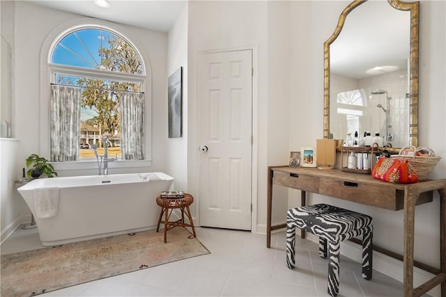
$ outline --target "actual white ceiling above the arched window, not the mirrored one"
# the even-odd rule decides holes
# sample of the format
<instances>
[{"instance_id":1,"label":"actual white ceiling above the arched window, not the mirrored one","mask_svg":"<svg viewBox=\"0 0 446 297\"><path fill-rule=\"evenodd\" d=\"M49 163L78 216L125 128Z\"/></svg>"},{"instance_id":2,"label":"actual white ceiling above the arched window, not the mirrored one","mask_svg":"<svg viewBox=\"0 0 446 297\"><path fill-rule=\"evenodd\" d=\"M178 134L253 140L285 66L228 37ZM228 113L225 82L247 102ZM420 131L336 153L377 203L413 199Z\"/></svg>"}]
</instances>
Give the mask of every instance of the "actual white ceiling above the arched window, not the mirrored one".
<instances>
[{"instance_id":1,"label":"actual white ceiling above the arched window, not the mirrored one","mask_svg":"<svg viewBox=\"0 0 446 297\"><path fill-rule=\"evenodd\" d=\"M160 32L168 32L171 29L187 3L186 0L109 0L111 3L109 8L99 8L95 6L93 0L28 0L26 2Z\"/></svg>"}]
</instances>

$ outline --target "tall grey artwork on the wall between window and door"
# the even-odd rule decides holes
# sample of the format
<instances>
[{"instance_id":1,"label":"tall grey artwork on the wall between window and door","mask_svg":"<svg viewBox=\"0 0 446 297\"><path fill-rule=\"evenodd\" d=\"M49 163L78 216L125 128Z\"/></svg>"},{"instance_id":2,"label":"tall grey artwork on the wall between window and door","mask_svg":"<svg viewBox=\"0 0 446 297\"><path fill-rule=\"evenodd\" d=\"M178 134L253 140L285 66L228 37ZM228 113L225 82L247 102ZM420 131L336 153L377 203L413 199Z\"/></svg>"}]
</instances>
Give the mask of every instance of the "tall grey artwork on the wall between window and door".
<instances>
[{"instance_id":1,"label":"tall grey artwork on the wall between window and door","mask_svg":"<svg viewBox=\"0 0 446 297\"><path fill-rule=\"evenodd\" d=\"M167 110L169 113L169 138L183 136L183 67L167 79Z\"/></svg>"}]
</instances>

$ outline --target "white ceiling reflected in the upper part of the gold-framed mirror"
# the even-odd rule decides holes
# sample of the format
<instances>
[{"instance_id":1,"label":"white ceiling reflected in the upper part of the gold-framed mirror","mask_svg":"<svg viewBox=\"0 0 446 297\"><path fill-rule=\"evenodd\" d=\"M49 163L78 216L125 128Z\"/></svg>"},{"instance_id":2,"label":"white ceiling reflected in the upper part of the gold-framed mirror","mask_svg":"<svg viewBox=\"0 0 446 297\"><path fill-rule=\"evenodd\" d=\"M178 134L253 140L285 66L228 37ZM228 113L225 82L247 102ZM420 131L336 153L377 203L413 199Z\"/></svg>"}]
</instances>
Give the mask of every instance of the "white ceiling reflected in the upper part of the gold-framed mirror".
<instances>
[{"instance_id":1,"label":"white ceiling reflected in the upper part of the gold-framed mirror","mask_svg":"<svg viewBox=\"0 0 446 297\"><path fill-rule=\"evenodd\" d=\"M330 71L362 79L406 70L409 46L410 12L392 8L387 1L367 1L347 15L330 46Z\"/></svg>"}]
</instances>

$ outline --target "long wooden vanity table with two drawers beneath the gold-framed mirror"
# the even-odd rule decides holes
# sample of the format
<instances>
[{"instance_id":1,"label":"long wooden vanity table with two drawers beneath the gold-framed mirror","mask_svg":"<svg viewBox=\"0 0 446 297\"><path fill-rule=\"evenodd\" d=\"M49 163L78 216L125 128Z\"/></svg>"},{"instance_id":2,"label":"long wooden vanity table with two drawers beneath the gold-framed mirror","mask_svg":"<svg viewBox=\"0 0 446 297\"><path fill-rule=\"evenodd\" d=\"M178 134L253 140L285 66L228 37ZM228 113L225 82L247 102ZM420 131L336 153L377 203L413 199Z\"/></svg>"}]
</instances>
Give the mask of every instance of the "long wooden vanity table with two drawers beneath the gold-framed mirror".
<instances>
[{"instance_id":1,"label":"long wooden vanity table with two drawers beneath the gold-framed mirror","mask_svg":"<svg viewBox=\"0 0 446 297\"><path fill-rule=\"evenodd\" d=\"M268 167L268 206L266 216L266 247L270 248L271 230L286 227L271 226L272 185L297 188L302 191L302 205L306 192L339 198L383 209L404 211L403 256L374 246L379 252L403 259L403 296L421 296L441 284L441 296L446 297L446 179L428 180L416 184L392 184L374 179L371 175L343 172L337 169L293 168L288 166ZM415 262L414 226L415 205L433 200L433 191L440 193L440 269ZM302 237L305 236L302 232ZM436 276L420 287L413 288L413 267L422 267Z\"/></svg>"}]
</instances>

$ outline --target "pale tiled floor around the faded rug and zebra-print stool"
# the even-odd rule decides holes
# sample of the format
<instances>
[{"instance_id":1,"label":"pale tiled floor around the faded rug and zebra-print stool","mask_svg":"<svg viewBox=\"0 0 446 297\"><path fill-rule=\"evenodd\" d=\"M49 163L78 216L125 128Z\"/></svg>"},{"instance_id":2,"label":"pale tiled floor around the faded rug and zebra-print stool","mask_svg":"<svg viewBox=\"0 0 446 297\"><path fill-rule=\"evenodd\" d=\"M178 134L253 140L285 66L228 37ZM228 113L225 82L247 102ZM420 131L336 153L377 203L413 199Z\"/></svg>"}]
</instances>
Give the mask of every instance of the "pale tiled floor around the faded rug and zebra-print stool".
<instances>
[{"instance_id":1,"label":"pale tiled floor around the faded rug and zebra-print stool","mask_svg":"<svg viewBox=\"0 0 446 297\"><path fill-rule=\"evenodd\" d=\"M197 238L210 255L125 273L40 296L328 296L327 259L318 256L316 243L296 238L298 268L285 264L285 233L197 228ZM39 248L36 229L17 229L1 246L1 253ZM341 256L338 296L402 296L401 282L374 271L361 277L361 266Z\"/></svg>"}]
</instances>

